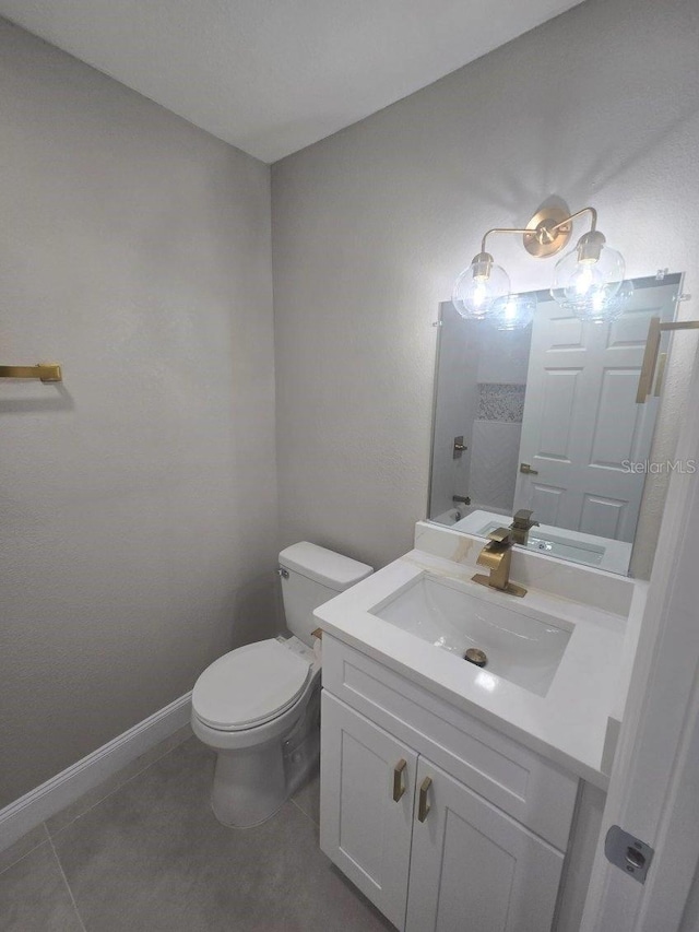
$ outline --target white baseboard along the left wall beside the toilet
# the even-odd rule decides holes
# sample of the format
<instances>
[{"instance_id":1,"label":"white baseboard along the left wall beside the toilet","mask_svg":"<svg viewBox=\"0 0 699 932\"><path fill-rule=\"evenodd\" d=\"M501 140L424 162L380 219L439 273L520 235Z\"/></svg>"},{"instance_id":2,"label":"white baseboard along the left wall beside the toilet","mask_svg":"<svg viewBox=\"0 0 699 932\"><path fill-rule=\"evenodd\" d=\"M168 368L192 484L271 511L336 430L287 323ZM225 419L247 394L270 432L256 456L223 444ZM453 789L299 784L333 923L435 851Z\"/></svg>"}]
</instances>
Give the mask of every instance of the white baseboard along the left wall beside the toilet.
<instances>
[{"instance_id":1,"label":"white baseboard along the left wall beside the toilet","mask_svg":"<svg viewBox=\"0 0 699 932\"><path fill-rule=\"evenodd\" d=\"M186 693L0 810L0 851L186 725L191 699Z\"/></svg>"}]
</instances>

